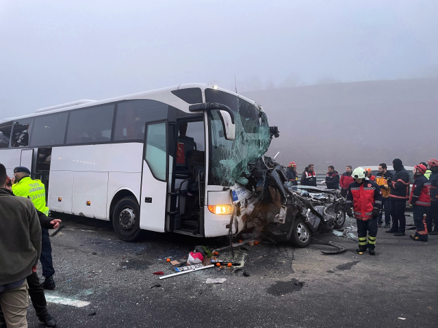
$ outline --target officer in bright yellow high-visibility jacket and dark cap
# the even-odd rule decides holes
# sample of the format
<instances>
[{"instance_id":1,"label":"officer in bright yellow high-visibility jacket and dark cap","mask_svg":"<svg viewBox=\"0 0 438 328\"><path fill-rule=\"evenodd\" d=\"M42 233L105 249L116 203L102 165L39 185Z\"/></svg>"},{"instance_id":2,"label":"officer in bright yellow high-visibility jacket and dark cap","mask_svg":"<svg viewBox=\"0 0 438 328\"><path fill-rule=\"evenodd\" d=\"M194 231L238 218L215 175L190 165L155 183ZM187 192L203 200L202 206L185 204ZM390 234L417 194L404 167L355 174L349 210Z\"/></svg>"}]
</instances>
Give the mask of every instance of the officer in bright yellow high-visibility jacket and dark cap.
<instances>
[{"instance_id":1,"label":"officer in bright yellow high-visibility jacket and dark cap","mask_svg":"<svg viewBox=\"0 0 438 328\"><path fill-rule=\"evenodd\" d=\"M46 190L40 180L32 180L30 171L27 167L15 167L14 180L12 181L12 192L16 196L27 197L35 205L36 209L49 216L49 208L46 206ZM45 277L43 288L55 289L53 280L52 246L49 239L49 230L42 228L42 250L40 258L42 266L42 276Z\"/></svg>"}]
</instances>

